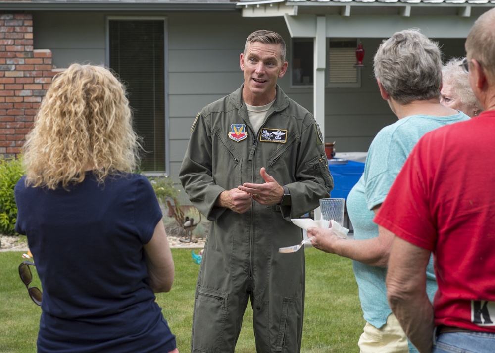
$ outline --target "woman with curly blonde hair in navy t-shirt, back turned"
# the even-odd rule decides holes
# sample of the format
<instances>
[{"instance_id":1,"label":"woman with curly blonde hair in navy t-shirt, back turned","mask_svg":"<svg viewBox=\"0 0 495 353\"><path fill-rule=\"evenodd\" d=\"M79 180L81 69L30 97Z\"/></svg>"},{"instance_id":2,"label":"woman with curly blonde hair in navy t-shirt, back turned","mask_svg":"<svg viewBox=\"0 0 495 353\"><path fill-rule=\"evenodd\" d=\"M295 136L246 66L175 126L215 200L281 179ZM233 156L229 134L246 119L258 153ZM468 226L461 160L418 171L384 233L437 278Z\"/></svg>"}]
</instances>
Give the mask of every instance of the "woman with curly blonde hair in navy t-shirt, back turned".
<instances>
[{"instance_id":1,"label":"woman with curly blonde hair in navy t-shirt, back turned","mask_svg":"<svg viewBox=\"0 0 495 353\"><path fill-rule=\"evenodd\" d=\"M125 88L107 69L54 77L24 145L16 231L36 260L38 352L174 352L155 302L174 263Z\"/></svg>"}]
</instances>

